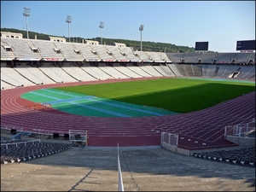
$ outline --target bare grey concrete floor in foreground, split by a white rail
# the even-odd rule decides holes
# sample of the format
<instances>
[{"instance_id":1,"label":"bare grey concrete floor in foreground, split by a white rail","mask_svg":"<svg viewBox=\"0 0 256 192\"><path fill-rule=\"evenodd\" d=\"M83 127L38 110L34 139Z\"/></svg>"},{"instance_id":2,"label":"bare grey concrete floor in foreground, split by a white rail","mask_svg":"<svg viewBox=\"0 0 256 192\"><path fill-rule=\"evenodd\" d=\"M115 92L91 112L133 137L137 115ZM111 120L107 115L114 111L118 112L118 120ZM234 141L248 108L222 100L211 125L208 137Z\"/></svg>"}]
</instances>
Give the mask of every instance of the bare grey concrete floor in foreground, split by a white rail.
<instances>
[{"instance_id":1,"label":"bare grey concrete floor in foreground, split by a white rail","mask_svg":"<svg viewBox=\"0 0 256 192\"><path fill-rule=\"evenodd\" d=\"M1 191L118 191L117 148L69 148L1 165ZM119 148L125 191L255 191L255 168L161 147Z\"/></svg>"}]
</instances>

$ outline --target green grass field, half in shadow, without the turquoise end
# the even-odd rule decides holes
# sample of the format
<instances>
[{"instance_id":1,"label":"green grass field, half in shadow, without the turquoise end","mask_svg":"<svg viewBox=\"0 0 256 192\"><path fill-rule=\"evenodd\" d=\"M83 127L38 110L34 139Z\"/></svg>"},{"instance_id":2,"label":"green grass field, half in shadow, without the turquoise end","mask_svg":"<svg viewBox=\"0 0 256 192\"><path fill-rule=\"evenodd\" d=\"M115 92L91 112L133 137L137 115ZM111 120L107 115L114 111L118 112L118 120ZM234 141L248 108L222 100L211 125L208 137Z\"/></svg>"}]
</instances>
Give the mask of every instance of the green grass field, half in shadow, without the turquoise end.
<instances>
[{"instance_id":1,"label":"green grass field, half in shadow, without the turquoise end","mask_svg":"<svg viewBox=\"0 0 256 192\"><path fill-rule=\"evenodd\" d=\"M252 92L255 83L223 79L153 79L56 89L188 113Z\"/></svg>"}]
</instances>

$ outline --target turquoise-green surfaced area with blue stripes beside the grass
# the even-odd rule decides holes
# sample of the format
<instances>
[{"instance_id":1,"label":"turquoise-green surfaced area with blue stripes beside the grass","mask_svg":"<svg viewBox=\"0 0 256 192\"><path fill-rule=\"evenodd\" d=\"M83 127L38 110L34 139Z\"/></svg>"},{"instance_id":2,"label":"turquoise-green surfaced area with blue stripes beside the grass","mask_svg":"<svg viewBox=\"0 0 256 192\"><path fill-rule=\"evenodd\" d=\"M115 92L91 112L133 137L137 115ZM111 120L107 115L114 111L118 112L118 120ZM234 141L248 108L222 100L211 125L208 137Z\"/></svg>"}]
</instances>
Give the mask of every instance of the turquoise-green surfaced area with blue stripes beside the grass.
<instances>
[{"instance_id":1,"label":"turquoise-green surfaced area with blue stripes beside the grass","mask_svg":"<svg viewBox=\"0 0 256 192\"><path fill-rule=\"evenodd\" d=\"M52 108L65 113L84 116L131 118L176 114L161 108L151 108L58 89L34 90L21 97L32 102L49 103Z\"/></svg>"}]
</instances>

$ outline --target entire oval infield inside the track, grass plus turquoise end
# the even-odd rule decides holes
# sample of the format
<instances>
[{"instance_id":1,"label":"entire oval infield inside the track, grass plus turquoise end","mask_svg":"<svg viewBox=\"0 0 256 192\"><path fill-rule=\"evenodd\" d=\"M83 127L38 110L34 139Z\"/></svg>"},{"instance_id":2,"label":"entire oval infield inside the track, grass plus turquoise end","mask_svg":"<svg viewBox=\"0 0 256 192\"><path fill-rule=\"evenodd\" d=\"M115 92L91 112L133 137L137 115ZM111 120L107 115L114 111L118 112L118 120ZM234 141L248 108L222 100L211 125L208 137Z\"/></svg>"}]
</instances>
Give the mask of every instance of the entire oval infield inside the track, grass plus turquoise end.
<instances>
[{"instance_id":1,"label":"entire oval infield inside the track, grass plus turquoise end","mask_svg":"<svg viewBox=\"0 0 256 192\"><path fill-rule=\"evenodd\" d=\"M189 113L254 90L251 81L172 78L34 90L21 97L65 113L131 118Z\"/></svg>"}]
</instances>

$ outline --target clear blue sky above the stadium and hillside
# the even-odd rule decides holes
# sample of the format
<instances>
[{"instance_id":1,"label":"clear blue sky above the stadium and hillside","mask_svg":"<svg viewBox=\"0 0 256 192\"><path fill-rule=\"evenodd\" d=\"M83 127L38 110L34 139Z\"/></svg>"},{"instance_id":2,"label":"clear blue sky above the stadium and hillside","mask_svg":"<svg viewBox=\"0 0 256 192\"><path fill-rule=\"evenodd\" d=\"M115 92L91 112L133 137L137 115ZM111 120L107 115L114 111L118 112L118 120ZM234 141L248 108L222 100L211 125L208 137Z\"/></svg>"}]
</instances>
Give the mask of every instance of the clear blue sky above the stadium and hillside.
<instances>
[{"instance_id":1,"label":"clear blue sky above the stadium and hillside","mask_svg":"<svg viewBox=\"0 0 256 192\"><path fill-rule=\"evenodd\" d=\"M236 52L237 40L255 39L255 1L1 1L1 28L70 36L143 41ZM33 37L31 37L33 38Z\"/></svg>"}]
</instances>

